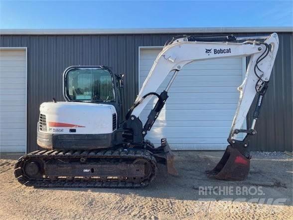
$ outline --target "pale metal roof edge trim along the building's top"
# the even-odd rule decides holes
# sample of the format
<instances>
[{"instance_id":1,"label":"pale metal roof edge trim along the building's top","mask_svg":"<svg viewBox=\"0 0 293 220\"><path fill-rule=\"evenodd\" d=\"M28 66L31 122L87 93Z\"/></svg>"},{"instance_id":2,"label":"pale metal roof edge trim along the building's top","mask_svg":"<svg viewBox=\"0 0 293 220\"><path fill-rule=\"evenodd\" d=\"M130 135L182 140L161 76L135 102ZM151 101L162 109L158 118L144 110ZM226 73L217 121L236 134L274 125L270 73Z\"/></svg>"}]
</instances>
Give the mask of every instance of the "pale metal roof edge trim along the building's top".
<instances>
[{"instance_id":1,"label":"pale metal roof edge trim along the building's top","mask_svg":"<svg viewBox=\"0 0 293 220\"><path fill-rule=\"evenodd\" d=\"M249 33L293 32L293 27L194 27L131 29L0 29L1 35L71 35L71 34L159 34L159 33Z\"/></svg>"}]
</instances>

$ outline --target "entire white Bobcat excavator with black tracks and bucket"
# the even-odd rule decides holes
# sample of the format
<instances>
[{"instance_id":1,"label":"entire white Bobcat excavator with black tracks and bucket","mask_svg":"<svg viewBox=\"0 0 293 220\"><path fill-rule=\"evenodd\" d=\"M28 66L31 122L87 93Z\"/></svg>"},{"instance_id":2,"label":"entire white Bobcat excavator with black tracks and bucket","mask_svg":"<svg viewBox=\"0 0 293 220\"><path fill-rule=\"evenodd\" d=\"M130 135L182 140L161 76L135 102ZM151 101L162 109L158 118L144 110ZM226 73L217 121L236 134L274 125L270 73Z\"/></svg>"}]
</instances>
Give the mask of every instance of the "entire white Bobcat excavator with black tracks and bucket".
<instances>
[{"instance_id":1,"label":"entire white Bobcat excavator with black tracks and bucket","mask_svg":"<svg viewBox=\"0 0 293 220\"><path fill-rule=\"evenodd\" d=\"M209 177L216 179L244 180L250 168L249 140L257 133L254 128L278 46L277 33L173 37L155 59L125 118L122 75L113 74L105 66L70 66L63 73L66 101L53 99L40 105L37 144L44 149L19 158L14 175L25 186L91 188L147 186L155 179L158 163L166 165L169 174L177 175L166 139L161 139L158 147L145 139L177 73L197 60L249 56L245 79L238 88L240 98L229 145L216 167L207 171ZM173 73L169 83L157 94L169 73ZM243 129L256 95L253 122ZM153 97L156 103L143 125L139 116Z\"/></svg>"}]
</instances>

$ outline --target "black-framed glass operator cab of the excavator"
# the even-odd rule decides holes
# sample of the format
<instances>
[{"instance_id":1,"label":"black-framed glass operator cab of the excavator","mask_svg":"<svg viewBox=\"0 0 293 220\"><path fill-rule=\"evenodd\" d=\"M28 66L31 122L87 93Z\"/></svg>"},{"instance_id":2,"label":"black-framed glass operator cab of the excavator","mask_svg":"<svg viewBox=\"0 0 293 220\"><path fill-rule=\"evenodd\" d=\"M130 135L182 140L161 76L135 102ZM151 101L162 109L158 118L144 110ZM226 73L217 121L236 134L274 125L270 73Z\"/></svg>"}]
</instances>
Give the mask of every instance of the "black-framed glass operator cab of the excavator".
<instances>
[{"instance_id":1,"label":"black-framed glass operator cab of the excavator","mask_svg":"<svg viewBox=\"0 0 293 220\"><path fill-rule=\"evenodd\" d=\"M63 97L68 102L101 103L117 109L123 121L124 75L107 66L70 66L63 73Z\"/></svg>"}]
</instances>

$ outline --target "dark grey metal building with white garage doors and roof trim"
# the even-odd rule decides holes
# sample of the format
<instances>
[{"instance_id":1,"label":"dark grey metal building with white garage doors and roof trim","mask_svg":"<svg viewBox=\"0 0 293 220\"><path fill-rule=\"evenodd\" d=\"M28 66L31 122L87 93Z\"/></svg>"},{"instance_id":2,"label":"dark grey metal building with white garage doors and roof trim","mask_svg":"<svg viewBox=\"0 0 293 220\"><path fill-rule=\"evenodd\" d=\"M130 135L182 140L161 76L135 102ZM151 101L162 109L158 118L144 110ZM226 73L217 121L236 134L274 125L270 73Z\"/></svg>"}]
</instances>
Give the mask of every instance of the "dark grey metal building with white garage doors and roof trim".
<instances>
[{"instance_id":1,"label":"dark grey metal building with white garage doors and roof trim","mask_svg":"<svg viewBox=\"0 0 293 220\"><path fill-rule=\"evenodd\" d=\"M178 34L272 32L279 34L280 47L251 148L292 151L293 29L286 27L0 30L0 151L30 152L38 148L39 105L53 97L63 101L61 74L70 65L103 64L114 73L124 73L129 108L168 38ZM175 150L224 150L246 63L245 58L227 58L184 67L147 138L157 143L166 137ZM150 107L142 113L142 120Z\"/></svg>"}]
</instances>

